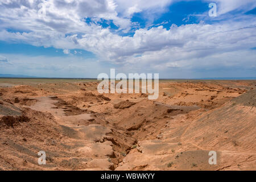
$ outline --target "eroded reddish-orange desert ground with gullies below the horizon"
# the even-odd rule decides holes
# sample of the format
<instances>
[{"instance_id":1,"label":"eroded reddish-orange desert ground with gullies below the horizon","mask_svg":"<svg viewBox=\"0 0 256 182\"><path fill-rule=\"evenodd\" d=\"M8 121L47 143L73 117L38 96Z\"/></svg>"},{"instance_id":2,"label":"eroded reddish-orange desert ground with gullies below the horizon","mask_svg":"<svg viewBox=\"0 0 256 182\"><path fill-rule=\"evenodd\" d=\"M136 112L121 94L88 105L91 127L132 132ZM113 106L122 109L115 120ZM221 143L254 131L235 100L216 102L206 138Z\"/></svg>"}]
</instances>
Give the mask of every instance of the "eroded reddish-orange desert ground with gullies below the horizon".
<instances>
[{"instance_id":1,"label":"eroded reddish-orange desert ground with gullies below the horizon","mask_svg":"<svg viewBox=\"0 0 256 182\"><path fill-rule=\"evenodd\" d=\"M256 169L255 80L162 80L157 100L98 83L1 78L0 169Z\"/></svg>"}]
</instances>

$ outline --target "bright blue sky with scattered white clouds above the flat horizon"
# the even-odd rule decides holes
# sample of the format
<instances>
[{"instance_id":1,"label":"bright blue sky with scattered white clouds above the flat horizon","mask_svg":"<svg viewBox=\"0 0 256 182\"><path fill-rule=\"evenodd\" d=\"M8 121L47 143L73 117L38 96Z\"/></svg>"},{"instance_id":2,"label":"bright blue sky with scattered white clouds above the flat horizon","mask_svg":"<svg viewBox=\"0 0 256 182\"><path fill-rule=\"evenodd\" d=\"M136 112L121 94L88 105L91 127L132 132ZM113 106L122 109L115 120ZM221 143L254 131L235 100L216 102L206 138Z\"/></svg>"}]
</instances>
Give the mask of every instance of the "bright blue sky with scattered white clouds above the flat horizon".
<instances>
[{"instance_id":1,"label":"bright blue sky with scattered white clouds above the flat horizon","mask_svg":"<svg viewBox=\"0 0 256 182\"><path fill-rule=\"evenodd\" d=\"M95 78L110 68L256 77L256 1L0 0L0 74Z\"/></svg>"}]
</instances>

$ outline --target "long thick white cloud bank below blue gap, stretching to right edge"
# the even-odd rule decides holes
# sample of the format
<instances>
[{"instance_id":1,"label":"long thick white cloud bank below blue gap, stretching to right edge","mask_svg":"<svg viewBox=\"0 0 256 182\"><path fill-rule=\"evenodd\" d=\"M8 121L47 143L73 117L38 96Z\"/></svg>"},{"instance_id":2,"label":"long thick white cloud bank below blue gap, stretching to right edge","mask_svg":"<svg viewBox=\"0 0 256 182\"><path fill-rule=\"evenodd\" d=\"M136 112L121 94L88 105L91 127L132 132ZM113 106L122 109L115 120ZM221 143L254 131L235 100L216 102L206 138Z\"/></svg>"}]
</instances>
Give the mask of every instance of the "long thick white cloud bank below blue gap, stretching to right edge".
<instances>
[{"instance_id":1,"label":"long thick white cloud bank below blue gap, stretching to right edge","mask_svg":"<svg viewBox=\"0 0 256 182\"><path fill-rule=\"evenodd\" d=\"M139 62L146 55L151 55L146 57L145 61L155 57L154 61L159 64L161 60L191 59L254 47L255 24L254 18L233 24L227 22L172 26L170 30L159 26L150 30L139 29L133 37L120 37L105 30L104 33L108 36L102 38L98 35L85 35L79 43L109 60L121 63ZM136 57L136 54L144 56Z\"/></svg>"}]
</instances>

